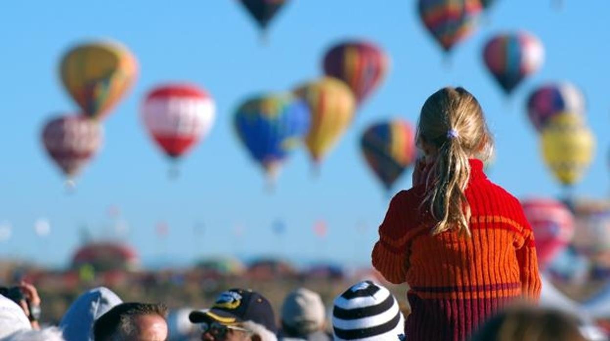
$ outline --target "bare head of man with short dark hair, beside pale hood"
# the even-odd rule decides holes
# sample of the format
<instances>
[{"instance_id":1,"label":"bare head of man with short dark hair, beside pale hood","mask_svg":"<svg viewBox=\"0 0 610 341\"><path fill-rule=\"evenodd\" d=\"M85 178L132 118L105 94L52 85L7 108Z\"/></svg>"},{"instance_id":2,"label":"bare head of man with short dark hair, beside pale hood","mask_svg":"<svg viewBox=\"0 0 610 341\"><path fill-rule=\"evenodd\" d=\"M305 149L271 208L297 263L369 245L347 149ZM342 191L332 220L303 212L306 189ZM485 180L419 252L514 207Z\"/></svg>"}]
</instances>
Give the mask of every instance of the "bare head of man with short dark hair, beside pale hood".
<instances>
[{"instance_id":1,"label":"bare head of man with short dark hair, beside pale hood","mask_svg":"<svg viewBox=\"0 0 610 341\"><path fill-rule=\"evenodd\" d=\"M165 341L165 317L167 308L163 304L118 304L95 321L93 338L95 341Z\"/></svg>"}]
</instances>

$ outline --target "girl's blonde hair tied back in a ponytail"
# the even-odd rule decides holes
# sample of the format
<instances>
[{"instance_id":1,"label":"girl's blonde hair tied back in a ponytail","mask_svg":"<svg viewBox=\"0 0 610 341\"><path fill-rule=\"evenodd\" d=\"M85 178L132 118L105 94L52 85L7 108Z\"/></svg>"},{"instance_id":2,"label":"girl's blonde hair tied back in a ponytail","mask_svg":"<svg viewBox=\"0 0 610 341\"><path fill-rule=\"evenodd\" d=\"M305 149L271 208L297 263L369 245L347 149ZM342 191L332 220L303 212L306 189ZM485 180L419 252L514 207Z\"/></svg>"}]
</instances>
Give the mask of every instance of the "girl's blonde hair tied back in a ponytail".
<instances>
[{"instance_id":1,"label":"girl's blonde hair tied back in a ponytail","mask_svg":"<svg viewBox=\"0 0 610 341\"><path fill-rule=\"evenodd\" d=\"M485 161L493 150L483 109L464 88L442 88L423 104L416 138L420 148L438 152L424 201L437 220L432 234L451 229L470 235L470 205L464 195L470 179L468 157Z\"/></svg>"}]
</instances>

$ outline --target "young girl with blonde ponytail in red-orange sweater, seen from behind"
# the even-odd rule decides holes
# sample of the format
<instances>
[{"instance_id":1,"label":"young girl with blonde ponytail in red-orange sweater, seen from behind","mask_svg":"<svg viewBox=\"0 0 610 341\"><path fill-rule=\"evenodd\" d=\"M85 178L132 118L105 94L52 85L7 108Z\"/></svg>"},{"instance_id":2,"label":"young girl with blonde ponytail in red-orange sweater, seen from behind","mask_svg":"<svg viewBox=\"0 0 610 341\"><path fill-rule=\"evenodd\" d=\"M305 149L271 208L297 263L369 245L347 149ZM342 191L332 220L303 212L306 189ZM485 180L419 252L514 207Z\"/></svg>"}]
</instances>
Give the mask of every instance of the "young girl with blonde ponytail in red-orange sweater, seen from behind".
<instances>
[{"instance_id":1,"label":"young girl with blonde ponytail in red-orange sweater, seen from behind","mask_svg":"<svg viewBox=\"0 0 610 341\"><path fill-rule=\"evenodd\" d=\"M510 301L539 298L534 236L519 201L483 173L493 140L473 95L430 96L417 144L413 187L392 198L373 266L409 285L407 340L462 341Z\"/></svg>"}]
</instances>

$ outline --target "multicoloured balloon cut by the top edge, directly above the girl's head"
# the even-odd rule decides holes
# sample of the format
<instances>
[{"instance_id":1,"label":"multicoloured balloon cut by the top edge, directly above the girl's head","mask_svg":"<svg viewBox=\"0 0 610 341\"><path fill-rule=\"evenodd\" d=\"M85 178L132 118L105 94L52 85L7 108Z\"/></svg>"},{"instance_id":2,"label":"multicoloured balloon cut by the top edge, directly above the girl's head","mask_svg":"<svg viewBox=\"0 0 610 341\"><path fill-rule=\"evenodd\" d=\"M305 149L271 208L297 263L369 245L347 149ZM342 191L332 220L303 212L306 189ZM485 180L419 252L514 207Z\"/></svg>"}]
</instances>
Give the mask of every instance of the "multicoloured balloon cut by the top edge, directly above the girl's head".
<instances>
[{"instance_id":1,"label":"multicoloured balloon cut by the top edge, directly above the girl's head","mask_svg":"<svg viewBox=\"0 0 610 341\"><path fill-rule=\"evenodd\" d=\"M481 14L479 0L419 0L419 15L445 52L472 34Z\"/></svg>"}]
</instances>

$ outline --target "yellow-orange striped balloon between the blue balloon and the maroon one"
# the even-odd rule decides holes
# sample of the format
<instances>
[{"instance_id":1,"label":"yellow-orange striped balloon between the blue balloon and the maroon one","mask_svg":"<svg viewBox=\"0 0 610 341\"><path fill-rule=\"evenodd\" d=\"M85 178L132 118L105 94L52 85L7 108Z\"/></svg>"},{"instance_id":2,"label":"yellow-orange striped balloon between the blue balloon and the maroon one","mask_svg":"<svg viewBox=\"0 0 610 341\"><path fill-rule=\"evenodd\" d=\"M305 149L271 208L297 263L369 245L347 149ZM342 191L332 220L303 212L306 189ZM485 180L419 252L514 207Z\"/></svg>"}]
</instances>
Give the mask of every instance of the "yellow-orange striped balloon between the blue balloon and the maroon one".
<instances>
[{"instance_id":1,"label":"yellow-orange striped balloon between the blue balloon and the maroon one","mask_svg":"<svg viewBox=\"0 0 610 341\"><path fill-rule=\"evenodd\" d=\"M300 85L295 93L309 104L312 124L305 142L319 164L351 123L356 99L344 82L332 77Z\"/></svg>"}]
</instances>

